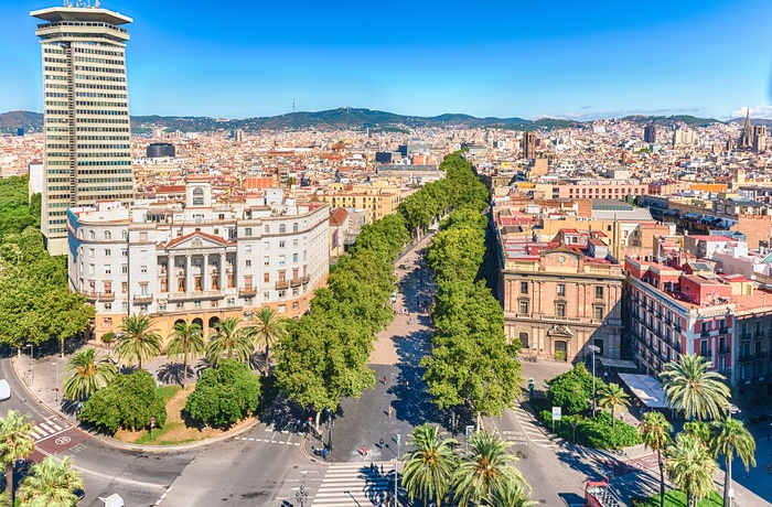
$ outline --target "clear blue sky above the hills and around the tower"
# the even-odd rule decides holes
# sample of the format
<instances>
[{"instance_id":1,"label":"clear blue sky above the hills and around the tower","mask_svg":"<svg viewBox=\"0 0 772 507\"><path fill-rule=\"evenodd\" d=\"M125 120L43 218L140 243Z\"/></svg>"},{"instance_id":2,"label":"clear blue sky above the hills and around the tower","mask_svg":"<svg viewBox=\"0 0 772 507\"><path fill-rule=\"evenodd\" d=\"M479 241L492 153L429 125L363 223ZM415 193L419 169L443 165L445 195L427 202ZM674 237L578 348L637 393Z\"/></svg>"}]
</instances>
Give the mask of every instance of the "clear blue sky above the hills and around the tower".
<instances>
[{"instance_id":1,"label":"clear blue sky above the hills and around the tower","mask_svg":"<svg viewBox=\"0 0 772 507\"><path fill-rule=\"evenodd\" d=\"M0 0L0 111L43 109L29 12L63 3ZM101 6L135 20L132 115L772 118L769 0Z\"/></svg>"}]
</instances>

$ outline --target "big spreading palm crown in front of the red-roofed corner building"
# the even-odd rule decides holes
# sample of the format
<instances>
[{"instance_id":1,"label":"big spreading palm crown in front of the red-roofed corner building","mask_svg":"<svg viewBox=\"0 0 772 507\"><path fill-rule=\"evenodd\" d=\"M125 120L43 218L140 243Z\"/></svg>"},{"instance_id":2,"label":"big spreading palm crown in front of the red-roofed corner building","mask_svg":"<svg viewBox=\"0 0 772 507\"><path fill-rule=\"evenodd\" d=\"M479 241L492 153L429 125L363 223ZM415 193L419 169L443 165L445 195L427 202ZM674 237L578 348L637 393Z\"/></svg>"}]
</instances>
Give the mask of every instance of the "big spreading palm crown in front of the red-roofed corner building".
<instances>
[{"instance_id":1,"label":"big spreading palm crown in front of the red-roofed corner building","mask_svg":"<svg viewBox=\"0 0 772 507\"><path fill-rule=\"evenodd\" d=\"M678 362L667 364L660 374L671 408L684 411L687 419L718 418L729 404L727 378L708 371L710 363L696 354L683 354Z\"/></svg>"}]
</instances>

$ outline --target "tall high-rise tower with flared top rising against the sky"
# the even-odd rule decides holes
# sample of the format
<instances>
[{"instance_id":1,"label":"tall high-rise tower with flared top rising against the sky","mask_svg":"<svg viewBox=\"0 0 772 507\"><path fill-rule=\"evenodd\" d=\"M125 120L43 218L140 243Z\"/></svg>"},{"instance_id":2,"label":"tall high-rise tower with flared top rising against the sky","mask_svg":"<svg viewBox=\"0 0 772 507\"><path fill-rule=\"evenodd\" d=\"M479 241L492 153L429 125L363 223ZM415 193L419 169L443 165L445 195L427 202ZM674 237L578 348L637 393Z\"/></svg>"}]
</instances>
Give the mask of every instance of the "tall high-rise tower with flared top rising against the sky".
<instances>
[{"instance_id":1,"label":"tall high-rise tower with flared top rising against the sky","mask_svg":"<svg viewBox=\"0 0 772 507\"><path fill-rule=\"evenodd\" d=\"M67 252L67 208L131 203L126 83L131 18L78 1L33 11L43 53L45 157L41 229L51 255Z\"/></svg>"}]
</instances>

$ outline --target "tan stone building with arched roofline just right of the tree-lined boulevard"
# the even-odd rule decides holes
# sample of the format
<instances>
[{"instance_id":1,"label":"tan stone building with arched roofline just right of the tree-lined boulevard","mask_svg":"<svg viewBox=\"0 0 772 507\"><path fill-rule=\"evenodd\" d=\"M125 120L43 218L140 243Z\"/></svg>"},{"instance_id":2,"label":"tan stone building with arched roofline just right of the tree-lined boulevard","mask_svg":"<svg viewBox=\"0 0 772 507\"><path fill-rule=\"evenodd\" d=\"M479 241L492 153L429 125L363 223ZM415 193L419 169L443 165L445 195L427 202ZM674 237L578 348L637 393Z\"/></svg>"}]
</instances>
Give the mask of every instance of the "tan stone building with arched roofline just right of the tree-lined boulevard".
<instances>
[{"instance_id":1,"label":"tan stone building with arched roofline just right of the tree-lined boulevard","mask_svg":"<svg viewBox=\"0 0 772 507\"><path fill-rule=\"evenodd\" d=\"M500 245L504 332L523 354L575 362L594 345L620 358L624 276L608 245L592 238L580 250L506 237Z\"/></svg>"}]
</instances>

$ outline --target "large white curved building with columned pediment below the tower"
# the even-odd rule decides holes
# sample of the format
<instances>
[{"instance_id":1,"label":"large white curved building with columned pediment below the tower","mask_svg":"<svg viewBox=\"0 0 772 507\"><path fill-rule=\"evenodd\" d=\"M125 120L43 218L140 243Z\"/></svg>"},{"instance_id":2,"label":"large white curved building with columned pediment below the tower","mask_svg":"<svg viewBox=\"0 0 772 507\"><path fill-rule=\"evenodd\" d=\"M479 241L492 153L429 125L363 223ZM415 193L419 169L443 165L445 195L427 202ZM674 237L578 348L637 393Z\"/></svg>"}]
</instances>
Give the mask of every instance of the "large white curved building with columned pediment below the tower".
<instances>
[{"instance_id":1,"label":"large white curved building with columned pediment below the tower","mask_svg":"<svg viewBox=\"0 0 772 507\"><path fill-rule=\"evenodd\" d=\"M308 311L329 270L329 207L271 188L266 198L212 202L207 176L189 176L179 203L100 202L68 212L71 289L94 304L96 337L122 319L156 317L162 336L182 320L208 335L227 316L261 306Z\"/></svg>"}]
</instances>

